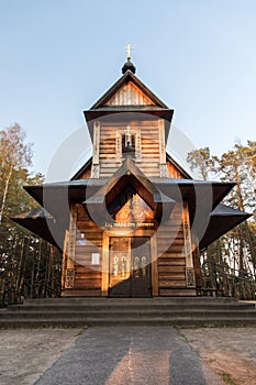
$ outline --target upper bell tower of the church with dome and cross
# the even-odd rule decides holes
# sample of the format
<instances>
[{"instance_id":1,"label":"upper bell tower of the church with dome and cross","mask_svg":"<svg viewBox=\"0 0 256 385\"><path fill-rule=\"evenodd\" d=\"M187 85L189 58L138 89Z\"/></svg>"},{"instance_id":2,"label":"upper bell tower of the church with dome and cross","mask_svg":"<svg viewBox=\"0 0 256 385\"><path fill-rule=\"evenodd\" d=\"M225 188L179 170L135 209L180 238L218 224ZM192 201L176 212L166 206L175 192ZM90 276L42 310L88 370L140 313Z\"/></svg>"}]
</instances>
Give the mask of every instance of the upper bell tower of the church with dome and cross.
<instances>
[{"instance_id":1,"label":"upper bell tower of the church with dome and cross","mask_svg":"<svg viewBox=\"0 0 256 385\"><path fill-rule=\"evenodd\" d=\"M166 177L166 141L174 111L136 76L126 46L123 76L85 111L93 143L91 178L112 176L122 165L124 153L147 177Z\"/></svg>"}]
</instances>

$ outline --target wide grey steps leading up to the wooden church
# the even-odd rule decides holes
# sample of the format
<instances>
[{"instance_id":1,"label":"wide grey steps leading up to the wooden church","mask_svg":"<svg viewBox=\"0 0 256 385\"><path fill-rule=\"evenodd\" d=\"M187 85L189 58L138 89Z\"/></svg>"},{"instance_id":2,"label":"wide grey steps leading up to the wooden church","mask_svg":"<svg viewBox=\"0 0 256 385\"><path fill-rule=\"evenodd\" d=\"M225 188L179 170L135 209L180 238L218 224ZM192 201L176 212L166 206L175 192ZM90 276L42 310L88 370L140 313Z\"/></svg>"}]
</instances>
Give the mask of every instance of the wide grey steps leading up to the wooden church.
<instances>
[{"instance_id":1,"label":"wide grey steps leading up to the wooden church","mask_svg":"<svg viewBox=\"0 0 256 385\"><path fill-rule=\"evenodd\" d=\"M233 298L46 298L0 309L0 328L256 326L253 302Z\"/></svg>"}]
</instances>

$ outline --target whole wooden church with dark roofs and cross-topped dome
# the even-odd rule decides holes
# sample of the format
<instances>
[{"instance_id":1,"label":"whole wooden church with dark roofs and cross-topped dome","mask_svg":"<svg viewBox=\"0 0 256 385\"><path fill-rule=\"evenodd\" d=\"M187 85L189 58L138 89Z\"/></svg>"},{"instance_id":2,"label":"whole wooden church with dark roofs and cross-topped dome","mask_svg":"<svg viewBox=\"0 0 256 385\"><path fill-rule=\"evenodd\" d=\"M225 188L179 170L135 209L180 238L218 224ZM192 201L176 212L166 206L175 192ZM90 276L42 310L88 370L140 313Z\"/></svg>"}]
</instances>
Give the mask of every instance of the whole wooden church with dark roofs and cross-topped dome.
<instances>
[{"instance_id":1,"label":"whole wooden church with dark roofs and cross-topped dome","mask_svg":"<svg viewBox=\"0 0 256 385\"><path fill-rule=\"evenodd\" d=\"M221 205L235 184L193 180L166 152L174 110L135 69L129 54L85 111L92 156L70 180L25 186L42 208L14 218L63 250L64 297L196 296L200 250L248 218Z\"/></svg>"}]
</instances>

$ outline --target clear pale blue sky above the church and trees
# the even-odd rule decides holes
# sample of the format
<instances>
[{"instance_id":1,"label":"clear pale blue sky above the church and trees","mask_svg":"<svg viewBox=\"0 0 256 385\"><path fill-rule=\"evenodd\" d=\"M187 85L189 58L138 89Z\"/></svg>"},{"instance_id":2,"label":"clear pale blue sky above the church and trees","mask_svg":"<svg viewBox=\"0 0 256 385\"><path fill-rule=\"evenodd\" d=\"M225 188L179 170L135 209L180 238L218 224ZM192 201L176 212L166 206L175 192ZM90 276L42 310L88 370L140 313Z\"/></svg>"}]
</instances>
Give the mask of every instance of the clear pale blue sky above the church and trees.
<instances>
[{"instance_id":1,"label":"clear pale blue sky above the church and trees","mask_svg":"<svg viewBox=\"0 0 256 385\"><path fill-rule=\"evenodd\" d=\"M121 76L127 43L197 147L255 140L255 0L0 0L0 129L26 131L34 172Z\"/></svg>"}]
</instances>

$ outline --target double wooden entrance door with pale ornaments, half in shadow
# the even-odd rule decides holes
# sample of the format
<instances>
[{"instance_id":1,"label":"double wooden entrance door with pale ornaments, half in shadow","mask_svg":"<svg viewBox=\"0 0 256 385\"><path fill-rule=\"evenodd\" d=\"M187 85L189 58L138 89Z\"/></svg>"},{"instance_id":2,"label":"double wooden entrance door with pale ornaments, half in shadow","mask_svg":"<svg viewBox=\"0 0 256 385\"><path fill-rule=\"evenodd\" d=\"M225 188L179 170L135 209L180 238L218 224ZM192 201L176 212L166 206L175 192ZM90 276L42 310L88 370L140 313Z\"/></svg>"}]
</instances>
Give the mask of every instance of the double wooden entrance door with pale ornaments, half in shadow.
<instances>
[{"instance_id":1,"label":"double wooden entrance door with pale ornaments, half in shadow","mask_svg":"<svg viewBox=\"0 0 256 385\"><path fill-rule=\"evenodd\" d=\"M151 297L151 239L110 238L110 297Z\"/></svg>"}]
</instances>

